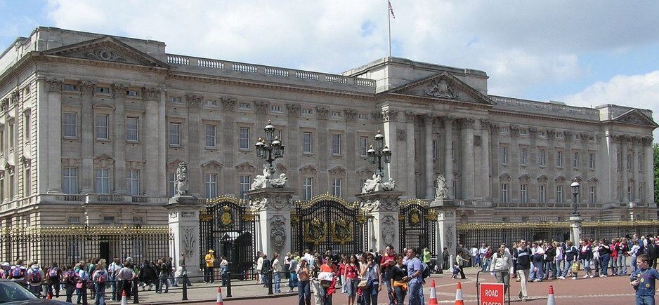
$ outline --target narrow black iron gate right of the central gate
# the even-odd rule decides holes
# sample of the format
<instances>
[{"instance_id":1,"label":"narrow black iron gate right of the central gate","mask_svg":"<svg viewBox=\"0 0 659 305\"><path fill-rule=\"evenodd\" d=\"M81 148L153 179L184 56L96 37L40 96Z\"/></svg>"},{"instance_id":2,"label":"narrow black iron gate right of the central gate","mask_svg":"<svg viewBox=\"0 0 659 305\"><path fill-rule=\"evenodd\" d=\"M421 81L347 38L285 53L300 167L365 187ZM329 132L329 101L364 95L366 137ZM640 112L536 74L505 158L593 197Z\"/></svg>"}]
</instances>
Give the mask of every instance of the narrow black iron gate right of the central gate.
<instances>
[{"instance_id":1,"label":"narrow black iron gate right of the central gate","mask_svg":"<svg viewBox=\"0 0 659 305\"><path fill-rule=\"evenodd\" d=\"M410 199L400 202L398 214L398 228L400 229L400 247L422 249L428 247L431 252L436 248L437 214L429 207L426 201Z\"/></svg>"}]
</instances>

